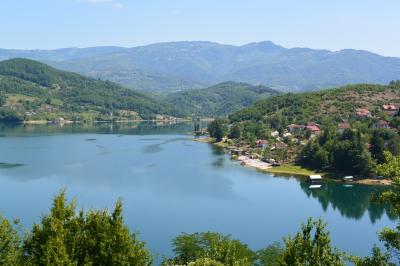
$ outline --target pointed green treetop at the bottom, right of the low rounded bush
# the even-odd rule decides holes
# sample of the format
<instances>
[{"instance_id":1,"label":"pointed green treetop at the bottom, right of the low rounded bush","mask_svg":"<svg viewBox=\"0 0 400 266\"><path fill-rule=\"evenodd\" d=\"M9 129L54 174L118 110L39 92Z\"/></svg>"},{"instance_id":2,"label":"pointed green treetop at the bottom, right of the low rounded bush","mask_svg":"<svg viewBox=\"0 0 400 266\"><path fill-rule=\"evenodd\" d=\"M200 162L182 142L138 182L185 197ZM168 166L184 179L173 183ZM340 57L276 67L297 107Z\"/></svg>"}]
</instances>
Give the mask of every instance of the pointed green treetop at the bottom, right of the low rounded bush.
<instances>
[{"instance_id":1,"label":"pointed green treetop at the bottom, right of the low rounded bush","mask_svg":"<svg viewBox=\"0 0 400 266\"><path fill-rule=\"evenodd\" d=\"M321 221L308 220L294 237L285 239L283 265L344 265L343 255L331 247L329 233Z\"/></svg>"}]
</instances>

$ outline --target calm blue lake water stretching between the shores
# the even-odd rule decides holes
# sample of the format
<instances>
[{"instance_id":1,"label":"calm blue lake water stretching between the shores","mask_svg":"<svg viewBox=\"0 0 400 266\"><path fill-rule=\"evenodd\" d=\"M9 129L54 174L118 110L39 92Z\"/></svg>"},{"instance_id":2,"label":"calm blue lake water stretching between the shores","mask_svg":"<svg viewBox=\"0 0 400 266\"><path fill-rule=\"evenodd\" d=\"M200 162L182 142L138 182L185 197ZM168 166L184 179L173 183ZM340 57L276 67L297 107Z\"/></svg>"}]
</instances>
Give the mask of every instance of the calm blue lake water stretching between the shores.
<instances>
[{"instance_id":1,"label":"calm blue lake water stretching between the shores","mask_svg":"<svg viewBox=\"0 0 400 266\"><path fill-rule=\"evenodd\" d=\"M79 208L109 208L122 198L126 223L153 253L171 255L181 232L231 234L253 249L298 231L308 217L328 223L333 243L366 255L377 231L394 226L370 204L381 187L325 183L311 189L274 177L209 144L191 124L0 126L0 213L31 227L66 188Z\"/></svg>"}]
</instances>

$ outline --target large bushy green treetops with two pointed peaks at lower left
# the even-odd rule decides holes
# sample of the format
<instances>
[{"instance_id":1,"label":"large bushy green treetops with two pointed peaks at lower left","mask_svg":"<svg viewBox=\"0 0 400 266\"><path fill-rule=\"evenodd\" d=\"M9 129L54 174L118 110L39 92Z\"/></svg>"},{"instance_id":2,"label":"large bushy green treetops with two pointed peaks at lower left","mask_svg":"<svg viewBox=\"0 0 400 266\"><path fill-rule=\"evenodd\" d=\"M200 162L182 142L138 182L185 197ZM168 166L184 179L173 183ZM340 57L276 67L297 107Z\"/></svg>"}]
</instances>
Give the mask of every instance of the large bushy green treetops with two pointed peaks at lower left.
<instances>
[{"instance_id":1,"label":"large bushy green treetops with two pointed peaks at lower left","mask_svg":"<svg viewBox=\"0 0 400 266\"><path fill-rule=\"evenodd\" d=\"M32 265L151 265L143 242L131 235L117 202L112 214L75 212L65 193L54 198L50 213L35 224L24 243L25 260Z\"/></svg>"}]
</instances>

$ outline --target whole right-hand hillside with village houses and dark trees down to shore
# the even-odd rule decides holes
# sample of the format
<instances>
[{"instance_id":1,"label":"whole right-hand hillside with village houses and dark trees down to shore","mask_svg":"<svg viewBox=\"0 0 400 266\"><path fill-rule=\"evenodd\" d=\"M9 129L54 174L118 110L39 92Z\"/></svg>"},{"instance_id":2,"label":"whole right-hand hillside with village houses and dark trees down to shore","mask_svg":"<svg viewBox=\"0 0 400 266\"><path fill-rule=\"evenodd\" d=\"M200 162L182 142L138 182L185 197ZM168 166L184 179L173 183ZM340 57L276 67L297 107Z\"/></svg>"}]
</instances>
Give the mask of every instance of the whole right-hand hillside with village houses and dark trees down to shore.
<instances>
[{"instance_id":1,"label":"whole right-hand hillside with village houses and dark trees down to shore","mask_svg":"<svg viewBox=\"0 0 400 266\"><path fill-rule=\"evenodd\" d=\"M288 93L216 119L208 132L243 163L263 170L366 178L376 175L387 152L400 155L399 106L400 81Z\"/></svg>"}]
</instances>

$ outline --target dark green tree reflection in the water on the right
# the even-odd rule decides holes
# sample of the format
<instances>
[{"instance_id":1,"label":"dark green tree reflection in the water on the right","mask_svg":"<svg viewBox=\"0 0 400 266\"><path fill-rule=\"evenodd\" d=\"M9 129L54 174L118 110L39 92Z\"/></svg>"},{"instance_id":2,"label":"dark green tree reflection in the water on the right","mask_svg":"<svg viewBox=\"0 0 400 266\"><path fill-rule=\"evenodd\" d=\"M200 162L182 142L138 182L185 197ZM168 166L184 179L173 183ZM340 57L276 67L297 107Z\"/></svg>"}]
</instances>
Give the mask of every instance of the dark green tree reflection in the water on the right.
<instances>
[{"instance_id":1,"label":"dark green tree reflection in the water on the right","mask_svg":"<svg viewBox=\"0 0 400 266\"><path fill-rule=\"evenodd\" d=\"M371 202L372 196L384 191L385 187L322 183L320 188L310 188L310 183L307 182L300 182L300 186L308 197L318 199L324 211L331 205L333 209L339 210L340 214L346 218L359 220L368 211L372 223L379 220L384 213L391 220L396 219L386 206Z\"/></svg>"}]
</instances>

